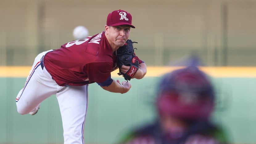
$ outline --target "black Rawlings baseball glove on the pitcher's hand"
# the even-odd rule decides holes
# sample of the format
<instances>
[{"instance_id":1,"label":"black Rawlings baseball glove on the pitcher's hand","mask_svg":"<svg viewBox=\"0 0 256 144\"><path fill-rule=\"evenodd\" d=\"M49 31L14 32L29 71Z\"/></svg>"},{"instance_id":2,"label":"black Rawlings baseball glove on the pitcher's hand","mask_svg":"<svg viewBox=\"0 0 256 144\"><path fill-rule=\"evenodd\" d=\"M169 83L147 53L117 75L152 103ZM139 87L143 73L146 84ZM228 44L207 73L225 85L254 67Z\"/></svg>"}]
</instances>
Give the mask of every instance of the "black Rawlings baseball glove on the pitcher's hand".
<instances>
[{"instance_id":1,"label":"black Rawlings baseball glove on the pitcher's hand","mask_svg":"<svg viewBox=\"0 0 256 144\"><path fill-rule=\"evenodd\" d=\"M138 68L140 66L134 54L134 49L137 49L137 48L133 48L133 43L137 43L137 42L133 42L130 39L128 39L122 47L118 48L115 54L116 56L118 56L118 60L117 60L117 65L119 68L118 75L119 76L122 75L124 79L127 80L127 82L128 80L131 80L131 78L138 71ZM120 70L122 65L130 66L130 69L126 73L123 73Z\"/></svg>"}]
</instances>

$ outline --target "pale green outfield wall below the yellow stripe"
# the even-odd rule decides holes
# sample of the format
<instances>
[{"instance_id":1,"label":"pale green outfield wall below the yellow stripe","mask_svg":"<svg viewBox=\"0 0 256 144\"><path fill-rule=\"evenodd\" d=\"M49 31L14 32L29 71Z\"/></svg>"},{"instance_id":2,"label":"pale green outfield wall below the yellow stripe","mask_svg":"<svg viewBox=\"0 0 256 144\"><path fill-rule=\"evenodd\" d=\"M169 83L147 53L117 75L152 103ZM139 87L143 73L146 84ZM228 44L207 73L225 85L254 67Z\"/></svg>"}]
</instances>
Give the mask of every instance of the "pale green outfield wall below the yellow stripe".
<instances>
[{"instance_id":1,"label":"pale green outfield wall below the yellow stripe","mask_svg":"<svg viewBox=\"0 0 256 144\"><path fill-rule=\"evenodd\" d=\"M212 120L225 127L230 142L256 143L256 77L244 73L244 77L211 79L217 93ZM43 101L34 116L17 113L15 98L25 80L26 77L0 77L0 143L63 143L55 95ZM132 79L132 88L125 94L110 93L97 84L89 84L85 143L115 143L129 128L150 122L155 117L152 102L158 80L159 76Z\"/></svg>"}]
</instances>

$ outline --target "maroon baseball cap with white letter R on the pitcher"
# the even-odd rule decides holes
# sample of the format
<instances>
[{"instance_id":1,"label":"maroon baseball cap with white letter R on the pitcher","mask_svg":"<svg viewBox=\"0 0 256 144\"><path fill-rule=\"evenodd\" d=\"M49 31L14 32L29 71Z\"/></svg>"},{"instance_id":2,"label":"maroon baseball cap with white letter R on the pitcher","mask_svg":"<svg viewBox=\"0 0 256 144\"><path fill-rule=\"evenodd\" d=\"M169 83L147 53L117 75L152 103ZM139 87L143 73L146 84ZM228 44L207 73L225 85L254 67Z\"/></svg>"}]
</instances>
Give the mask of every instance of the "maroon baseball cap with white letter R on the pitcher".
<instances>
[{"instance_id":1,"label":"maroon baseball cap with white letter R on the pitcher","mask_svg":"<svg viewBox=\"0 0 256 144\"><path fill-rule=\"evenodd\" d=\"M132 16L130 13L124 10L114 10L109 13L107 18L107 26L120 26L120 25L129 25L132 28L135 28L132 25Z\"/></svg>"}]
</instances>

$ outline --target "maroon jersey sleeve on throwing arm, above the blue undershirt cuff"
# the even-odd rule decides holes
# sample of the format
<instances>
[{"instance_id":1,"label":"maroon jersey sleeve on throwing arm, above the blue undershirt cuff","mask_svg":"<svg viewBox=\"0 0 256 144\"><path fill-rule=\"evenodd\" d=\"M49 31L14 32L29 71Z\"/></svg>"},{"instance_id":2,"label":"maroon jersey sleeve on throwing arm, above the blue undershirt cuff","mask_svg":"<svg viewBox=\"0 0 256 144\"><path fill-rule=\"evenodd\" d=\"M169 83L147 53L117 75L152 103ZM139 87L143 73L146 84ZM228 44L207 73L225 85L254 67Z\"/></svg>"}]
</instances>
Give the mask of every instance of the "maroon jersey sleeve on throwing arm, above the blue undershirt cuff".
<instances>
[{"instance_id":1,"label":"maroon jersey sleeve on throwing arm, above the blue undershirt cuff","mask_svg":"<svg viewBox=\"0 0 256 144\"><path fill-rule=\"evenodd\" d=\"M106 81L112 70L113 62L93 62L86 64L85 71L88 75L89 82L102 83Z\"/></svg>"}]
</instances>

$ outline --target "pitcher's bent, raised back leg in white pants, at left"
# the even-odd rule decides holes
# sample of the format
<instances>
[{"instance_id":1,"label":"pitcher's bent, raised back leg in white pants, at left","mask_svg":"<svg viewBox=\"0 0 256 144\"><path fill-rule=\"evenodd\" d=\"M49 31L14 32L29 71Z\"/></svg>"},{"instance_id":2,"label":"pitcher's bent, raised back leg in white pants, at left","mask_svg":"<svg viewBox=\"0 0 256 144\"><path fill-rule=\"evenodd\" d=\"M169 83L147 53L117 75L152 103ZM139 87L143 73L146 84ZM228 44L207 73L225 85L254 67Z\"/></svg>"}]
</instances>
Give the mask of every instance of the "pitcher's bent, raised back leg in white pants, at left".
<instances>
[{"instance_id":1,"label":"pitcher's bent, raised back leg in white pants, at left","mask_svg":"<svg viewBox=\"0 0 256 144\"><path fill-rule=\"evenodd\" d=\"M35 58L24 87L16 97L17 111L20 114L31 112L40 102L57 92L56 82L52 80L47 70L41 67L40 59L46 52Z\"/></svg>"}]
</instances>

